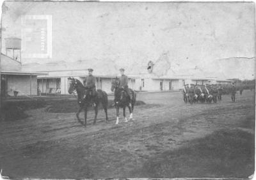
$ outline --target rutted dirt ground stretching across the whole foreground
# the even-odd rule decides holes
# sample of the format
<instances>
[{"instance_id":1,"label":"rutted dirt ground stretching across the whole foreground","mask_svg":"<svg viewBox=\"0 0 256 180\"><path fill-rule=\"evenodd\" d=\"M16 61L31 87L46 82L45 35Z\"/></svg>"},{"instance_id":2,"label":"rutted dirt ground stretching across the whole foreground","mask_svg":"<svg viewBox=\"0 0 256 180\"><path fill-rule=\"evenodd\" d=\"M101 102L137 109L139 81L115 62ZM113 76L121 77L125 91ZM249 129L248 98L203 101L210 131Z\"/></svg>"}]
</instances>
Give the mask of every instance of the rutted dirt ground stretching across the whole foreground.
<instances>
[{"instance_id":1,"label":"rutted dirt ground stretching across the whole foreground","mask_svg":"<svg viewBox=\"0 0 256 180\"><path fill-rule=\"evenodd\" d=\"M28 110L2 121L0 169L13 178L248 177L254 171L255 96L185 104L180 92L138 93L146 105L115 125L115 109L93 125L74 112ZM122 113L121 113L122 114ZM127 110L128 114L128 110ZM83 117L83 113L80 115Z\"/></svg>"}]
</instances>

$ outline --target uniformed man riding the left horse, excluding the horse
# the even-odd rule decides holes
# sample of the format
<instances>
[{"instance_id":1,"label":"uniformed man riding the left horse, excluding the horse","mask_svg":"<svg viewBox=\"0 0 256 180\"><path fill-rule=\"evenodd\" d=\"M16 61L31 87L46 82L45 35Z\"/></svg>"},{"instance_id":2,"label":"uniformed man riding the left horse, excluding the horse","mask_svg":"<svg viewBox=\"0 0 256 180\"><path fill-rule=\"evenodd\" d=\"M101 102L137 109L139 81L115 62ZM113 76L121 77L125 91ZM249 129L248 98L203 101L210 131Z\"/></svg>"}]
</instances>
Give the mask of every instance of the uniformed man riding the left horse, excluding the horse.
<instances>
[{"instance_id":1,"label":"uniformed man riding the left horse, excluding the horse","mask_svg":"<svg viewBox=\"0 0 256 180\"><path fill-rule=\"evenodd\" d=\"M93 106L95 107L95 96L96 96L96 78L92 75L93 69L88 68L88 77L84 80L84 86L88 90L86 96L89 95L92 97ZM85 98L85 97L84 97Z\"/></svg>"}]
</instances>

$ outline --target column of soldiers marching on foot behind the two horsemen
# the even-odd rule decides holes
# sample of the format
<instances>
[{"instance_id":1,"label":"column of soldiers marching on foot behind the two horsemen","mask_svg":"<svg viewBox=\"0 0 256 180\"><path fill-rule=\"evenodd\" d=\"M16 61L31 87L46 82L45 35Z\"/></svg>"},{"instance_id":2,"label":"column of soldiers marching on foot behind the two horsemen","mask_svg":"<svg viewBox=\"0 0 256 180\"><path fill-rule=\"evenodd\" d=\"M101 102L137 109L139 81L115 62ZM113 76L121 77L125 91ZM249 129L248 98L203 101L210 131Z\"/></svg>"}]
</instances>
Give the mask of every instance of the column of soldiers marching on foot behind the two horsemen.
<instances>
[{"instance_id":1,"label":"column of soldiers marching on foot behind the two horsemen","mask_svg":"<svg viewBox=\"0 0 256 180\"><path fill-rule=\"evenodd\" d=\"M185 103L217 103L223 94L231 94L232 102L236 101L236 92L243 93L243 86L237 88L232 84L186 84L183 87L183 100Z\"/></svg>"}]
</instances>

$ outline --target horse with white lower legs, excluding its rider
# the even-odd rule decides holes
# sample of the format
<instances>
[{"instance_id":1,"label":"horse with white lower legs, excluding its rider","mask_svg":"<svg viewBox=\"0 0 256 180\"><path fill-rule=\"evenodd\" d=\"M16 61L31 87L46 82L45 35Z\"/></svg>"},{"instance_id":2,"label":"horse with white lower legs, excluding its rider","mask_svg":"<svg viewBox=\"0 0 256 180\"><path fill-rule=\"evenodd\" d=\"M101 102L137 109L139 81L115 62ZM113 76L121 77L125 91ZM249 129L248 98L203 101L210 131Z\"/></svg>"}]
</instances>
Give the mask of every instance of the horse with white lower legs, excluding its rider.
<instances>
[{"instance_id":1,"label":"horse with white lower legs, excluding its rider","mask_svg":"<svg viewBox=\"0 0 256 180\"><path fill-rule=\"evenodd\" d=\"M120 81L116 77L112 80L111 91L115 93L115 108L116 108L116 124L119 122L119 107L123 108L123 114L125 122L127 122L127 118L125 117L125 107L129 108L130 117L129 120L132 119L132 111L134 109L134 104L136 102L136 93L130 89L132 93L132 100L131 100L131 107L129 106L130 103L130 96L129 94L125 93L124 89L120 87Z\"/></svg>"}]
</instances>

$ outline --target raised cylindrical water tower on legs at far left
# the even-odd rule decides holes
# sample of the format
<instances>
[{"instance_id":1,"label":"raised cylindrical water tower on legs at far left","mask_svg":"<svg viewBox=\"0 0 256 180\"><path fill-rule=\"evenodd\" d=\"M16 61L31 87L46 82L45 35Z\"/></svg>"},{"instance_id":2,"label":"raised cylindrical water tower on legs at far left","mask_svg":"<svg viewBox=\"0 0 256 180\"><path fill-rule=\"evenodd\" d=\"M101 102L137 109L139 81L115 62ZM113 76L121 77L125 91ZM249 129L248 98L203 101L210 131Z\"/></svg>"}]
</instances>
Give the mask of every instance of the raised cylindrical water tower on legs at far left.
<instances>
[{"instance_id":1,"label":"raised cylindrical water tower on legs at far left","mask_svg":"<svg viewBox=\"0 0 256 180\"><path fill-rule=\"evenodd\" d=\"M6 56L12 57L21 63L21 39L16 37L5 38Z\"/></svg>"}]
</instances>

